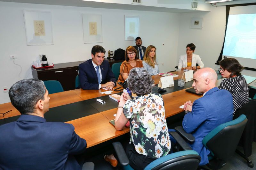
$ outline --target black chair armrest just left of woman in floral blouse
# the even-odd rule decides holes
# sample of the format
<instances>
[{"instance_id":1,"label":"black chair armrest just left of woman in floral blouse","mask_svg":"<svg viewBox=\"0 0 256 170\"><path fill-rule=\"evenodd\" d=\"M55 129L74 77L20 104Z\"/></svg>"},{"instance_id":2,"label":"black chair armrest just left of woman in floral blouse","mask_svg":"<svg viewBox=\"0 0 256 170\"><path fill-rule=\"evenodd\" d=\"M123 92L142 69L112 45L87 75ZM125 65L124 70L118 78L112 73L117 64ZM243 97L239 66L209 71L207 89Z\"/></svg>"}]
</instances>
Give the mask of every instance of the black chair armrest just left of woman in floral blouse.
<instances>
[{"instance_id":1,"label":"black chair armrest just left of woman in floral blouse","mask_svg":"<svg viewBox=\"0 0 256 170\"><path fill-rule=\"evenodd\" d=\"M122 144L120 142L113 142L112 143L115 151L116 151L116 155L118 157L118 161L122 166L127 166L129 165L129 159L127 158L127 155L124 151L124 148L122 146Z\"/></svg>"}]
</instances>

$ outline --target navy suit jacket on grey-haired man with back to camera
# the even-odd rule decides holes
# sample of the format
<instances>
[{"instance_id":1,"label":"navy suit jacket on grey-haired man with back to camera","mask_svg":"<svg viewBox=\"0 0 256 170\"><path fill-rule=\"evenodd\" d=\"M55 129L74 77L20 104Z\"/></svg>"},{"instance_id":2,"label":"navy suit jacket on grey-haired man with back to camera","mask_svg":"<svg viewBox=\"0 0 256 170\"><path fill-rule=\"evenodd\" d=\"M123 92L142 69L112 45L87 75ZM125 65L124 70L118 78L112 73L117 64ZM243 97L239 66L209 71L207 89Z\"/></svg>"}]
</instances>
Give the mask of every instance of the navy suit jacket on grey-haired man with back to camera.
<instances>
[{"instance_id":1,"label":"navy suit jacket on grey-haired man with back to camera","mask_svg":"<svg viewBox=\"0 0 256 170\"><path fill-rule=\"evenodd\" d=\"M0 126L0 169L81 169L72 155L85 148L68 123L20 115Z\"/></svg>"}]
</instances>

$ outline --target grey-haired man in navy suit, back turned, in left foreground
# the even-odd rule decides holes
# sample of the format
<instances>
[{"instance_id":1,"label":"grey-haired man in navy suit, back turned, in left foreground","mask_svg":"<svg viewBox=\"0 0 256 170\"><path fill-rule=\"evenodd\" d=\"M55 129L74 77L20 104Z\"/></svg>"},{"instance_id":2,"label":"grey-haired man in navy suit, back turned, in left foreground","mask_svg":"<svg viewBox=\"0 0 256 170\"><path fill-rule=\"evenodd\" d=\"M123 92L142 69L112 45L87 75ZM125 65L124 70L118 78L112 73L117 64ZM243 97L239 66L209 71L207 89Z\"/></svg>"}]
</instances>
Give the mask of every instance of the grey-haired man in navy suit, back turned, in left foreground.
<instances>
[{"instance_id":1,"label":"grey-haired man in navy suit, back turned, in left foreground","mask_svg":"<svg viewBox=\"0 0 256 170\"><path fill-rule=\"evenodd\" d=\"M74 155L84 152L86 141L72 124L46 122L50 97L44 82L20 80L9 96L21 115L0 126L0 169L81 169Z\"/></svg>"}]
</instances>

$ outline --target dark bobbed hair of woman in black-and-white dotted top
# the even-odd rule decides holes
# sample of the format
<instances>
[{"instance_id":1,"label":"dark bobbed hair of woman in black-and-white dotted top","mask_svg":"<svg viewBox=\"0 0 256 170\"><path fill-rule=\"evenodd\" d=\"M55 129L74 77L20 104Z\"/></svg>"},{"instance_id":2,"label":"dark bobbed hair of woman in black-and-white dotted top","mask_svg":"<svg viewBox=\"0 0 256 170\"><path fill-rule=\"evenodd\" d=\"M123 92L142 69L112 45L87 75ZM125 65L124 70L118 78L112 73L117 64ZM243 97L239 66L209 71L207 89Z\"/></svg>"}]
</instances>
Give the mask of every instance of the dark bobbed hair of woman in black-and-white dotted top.
<instances>
[{"instance_id":1,"label":"dark bobbed hair of woman in black-and-white dotted top","mask_svg":"<svg viewBox=\"0 0 256 170\"><path fill-rule=\"evenodd\" d=\"M220 61L220 66L230 72L229 78L232 76L240 76L244 67L235 58L226 58Z\"/></svg>"}]
</instances>

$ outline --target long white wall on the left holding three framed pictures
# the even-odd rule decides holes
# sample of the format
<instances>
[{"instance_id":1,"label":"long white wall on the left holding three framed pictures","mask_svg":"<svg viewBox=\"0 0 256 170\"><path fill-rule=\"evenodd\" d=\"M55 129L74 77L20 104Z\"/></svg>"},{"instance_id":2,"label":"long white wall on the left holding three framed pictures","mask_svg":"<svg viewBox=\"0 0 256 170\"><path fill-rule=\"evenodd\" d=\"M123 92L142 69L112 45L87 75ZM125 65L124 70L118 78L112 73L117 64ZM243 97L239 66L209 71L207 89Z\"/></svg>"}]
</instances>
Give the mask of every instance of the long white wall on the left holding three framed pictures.
<instances>
[{"instance_id":1,"label":"long white wall on the left holding three framed pictures","mask_svg":"<svg viewBox=\"0 0 256 170\"><path fill-rule=\"evenodd\" d=\"M22 10L52 12L54 45L27 46ZM96 44L84 44L82 13L102 14L103 43L97 44L106 51L135 45L135 41L124 41L124 15L140 16L143 46L156 46L159 70L174 70L177 65L178 13L0 2L0 88L7 86L9 89L27 75L32 78L31 64L39 54L45 54L48 62L54 64L90 59L91 48ZM20 67L9 59L13 54L17 56L15 63L22 67L21 73ZM0 103L9 101L8 93L0 90Z\"/></svg>"}]
</instances>

